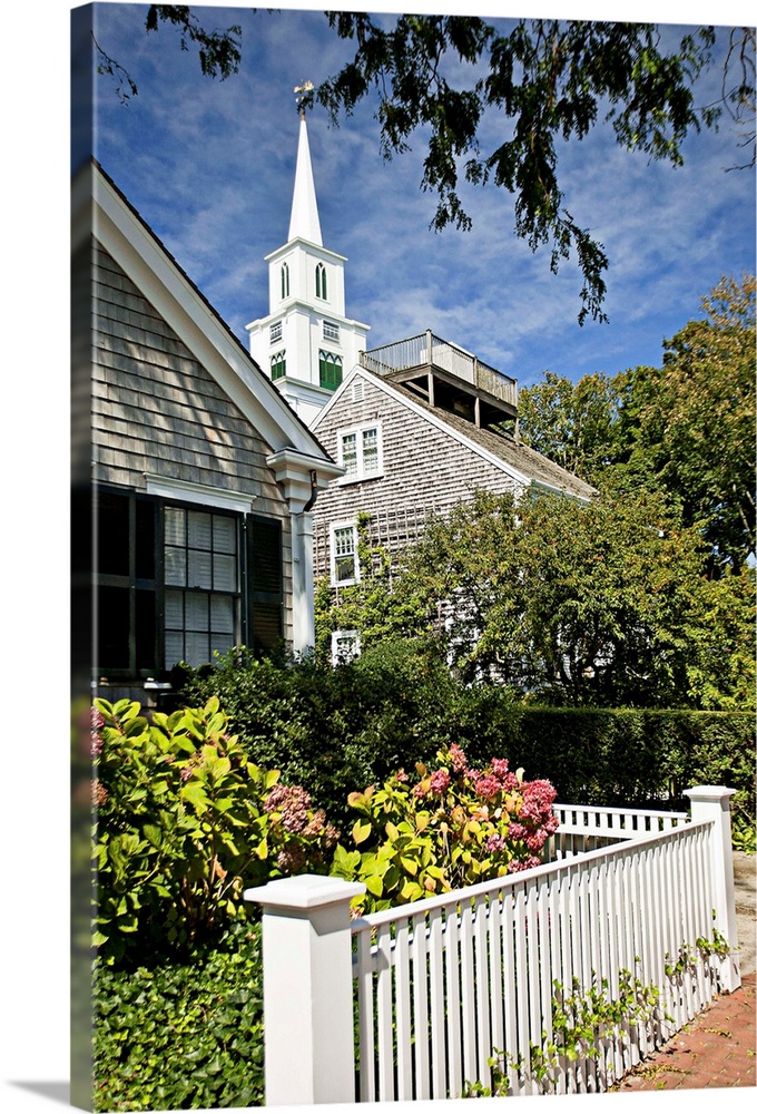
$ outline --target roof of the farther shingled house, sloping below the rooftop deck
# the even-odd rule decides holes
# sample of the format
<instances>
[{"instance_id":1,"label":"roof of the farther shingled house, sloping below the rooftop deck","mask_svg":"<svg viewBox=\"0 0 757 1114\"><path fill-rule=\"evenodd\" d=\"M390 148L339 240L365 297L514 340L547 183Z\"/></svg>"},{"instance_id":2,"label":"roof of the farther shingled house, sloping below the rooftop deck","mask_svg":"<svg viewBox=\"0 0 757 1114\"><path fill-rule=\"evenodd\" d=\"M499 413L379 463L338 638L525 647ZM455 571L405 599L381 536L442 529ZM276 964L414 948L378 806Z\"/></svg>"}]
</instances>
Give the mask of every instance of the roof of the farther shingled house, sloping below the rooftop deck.
<instances>
[{"instance_id":1,"label":"roof of the farther shingled house, sloping below the rooftop deck","mask_svg":"<svg viewBox=\"0 0 757 1114\"><path fill-rule=\"evenodd\" d=\"M446 410L431 407L406 387L375 375L364 368L354 368L350 375L345 378L327 405L324 407L313 422L313 429L317 430L324 416L340 405L341 400L345 397L346 391L351 390L352 383L357 377L362 377L366 382L383 391L387 397L396 399L425 421L436 426L438 429L444 430L456 441L468 446L473 452L501 468L508 475L512 476L518 483L523 486L537 485L582 500L589 500L597 495L596 488L591 487L590 483L579 479L578 476L561 468L560 465L556 465L554 461L549 460L540 452L529 448L529 446L523 444L522 441L515 441L514 438L508 437L505 433L498 433L491 429L480 429L473 422L465 421L464 418L459 418ZM350 404L347 403L347 405Z\"/></svg>"}]
</instances>

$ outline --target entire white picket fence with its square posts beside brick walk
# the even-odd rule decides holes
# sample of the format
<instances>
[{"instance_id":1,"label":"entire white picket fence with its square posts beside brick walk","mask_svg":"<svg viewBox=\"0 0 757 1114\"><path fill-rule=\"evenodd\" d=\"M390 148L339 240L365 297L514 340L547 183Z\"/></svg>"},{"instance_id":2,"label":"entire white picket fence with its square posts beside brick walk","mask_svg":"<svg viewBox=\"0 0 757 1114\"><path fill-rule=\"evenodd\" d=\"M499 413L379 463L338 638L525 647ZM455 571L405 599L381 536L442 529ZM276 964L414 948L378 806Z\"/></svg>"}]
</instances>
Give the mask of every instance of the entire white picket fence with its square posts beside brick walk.
<instances>
[{"instance_id":1,"label":"entire white picket fence with its square posts beside brick walk","mask_svg":"<svg viewBox=\"0 0 757 1114\"><path fill-rule=\"evenodd\" d=\"M688 795L690 817L556 805L552 861L352 922L357 883L246 891L263 905L266 1104L459 1097L491 1086L493 1055L509 1094L606 1091L740 983L733 791ZM697 947L716 934L729 954ZM576 1046L556 1003L592 991L658 1000Z\"/></svg>"}]
</instances>

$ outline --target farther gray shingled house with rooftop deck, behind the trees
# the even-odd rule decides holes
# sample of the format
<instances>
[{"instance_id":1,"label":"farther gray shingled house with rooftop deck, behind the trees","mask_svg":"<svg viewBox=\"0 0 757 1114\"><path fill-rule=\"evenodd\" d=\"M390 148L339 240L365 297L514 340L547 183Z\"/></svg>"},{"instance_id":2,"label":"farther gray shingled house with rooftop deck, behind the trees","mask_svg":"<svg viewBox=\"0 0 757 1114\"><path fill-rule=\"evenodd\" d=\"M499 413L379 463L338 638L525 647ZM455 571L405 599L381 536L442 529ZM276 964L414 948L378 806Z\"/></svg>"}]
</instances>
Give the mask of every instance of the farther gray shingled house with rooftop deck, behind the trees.
<instances>
[{"instance_id":1,"label":"farther gray shingled house with rooftop deck, behind the trees","mask_svg":"<svg viewBox=\"0 0 757 1114\"><path fill-rule=\"evenodd\" d=\"M311 423L344 468L314 511L316 579L335 593L361 576L357 516L391 556L479 489L520 497L529 489L588 500L594 489L523 444L518 384L431 332L362 352ZM354 652L357 632L335 632L334 655Z\"/></svg>"}]
</instances>

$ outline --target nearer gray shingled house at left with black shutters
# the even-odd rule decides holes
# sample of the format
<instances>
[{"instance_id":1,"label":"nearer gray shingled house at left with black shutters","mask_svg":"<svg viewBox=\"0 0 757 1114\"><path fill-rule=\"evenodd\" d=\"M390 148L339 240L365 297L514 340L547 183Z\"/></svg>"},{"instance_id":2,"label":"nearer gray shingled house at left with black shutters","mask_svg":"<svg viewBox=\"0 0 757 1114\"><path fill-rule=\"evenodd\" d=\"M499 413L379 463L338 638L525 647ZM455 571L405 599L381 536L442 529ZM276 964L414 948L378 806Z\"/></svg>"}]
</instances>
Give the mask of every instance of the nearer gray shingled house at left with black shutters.
<instances>
[{"instance_id":1,"label":"nearer gray shingled house at left with black shutters","mask_svg":"<svg viewBox=\"0 0 757 1114\"><path fill-rule=\"evenodd\" d=\"M313 645L341 469L95 162L72 202L72 672L154 703L178 662Z\"/></svg>"}]
</instances>

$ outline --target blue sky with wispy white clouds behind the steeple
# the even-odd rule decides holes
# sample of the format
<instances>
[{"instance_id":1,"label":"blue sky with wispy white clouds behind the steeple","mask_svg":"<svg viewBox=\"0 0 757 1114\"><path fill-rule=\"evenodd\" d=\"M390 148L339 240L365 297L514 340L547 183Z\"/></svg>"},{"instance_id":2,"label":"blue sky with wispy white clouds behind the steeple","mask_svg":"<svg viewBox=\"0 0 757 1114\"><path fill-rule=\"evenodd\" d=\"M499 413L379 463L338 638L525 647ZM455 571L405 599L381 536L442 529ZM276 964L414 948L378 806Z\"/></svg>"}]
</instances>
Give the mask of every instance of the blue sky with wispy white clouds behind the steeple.
<instances>
[{"instance_id":1,"label":"blue sky with wispy white clouds behind the steeple","mask_svg":"<svg viewBox=\"0 0 757 1114\"><path fill-rule=\"evenodd\" d=\"M178 49L174 29L145 33L145 4L97 8L98 41L139 94L124 106L112 82L96 78L96 155L246 343L245 324L268 311L264 256L288 229L293 87L335 72L348 46L317 10L214 6L205 22L243 26L240 72L214 81ZM672 40L681 28L666 33ZM718 81L717 72L702 80L702 101ZM430 231L435 199L420 189L422 137L386 163L374 111L375 102L361 105L334 128L316 107L308 120L324 243L350 261L347 314L371 325L370 346L432 329L522 385L547 370L615 374L658 364L663 338L699 314L719 277L755 267L755 175L725 173L739 159L729 126L687 140L682 167L650 165L600 127L560 150L566 207L610 260L609 324L580 328L577 266L563 263L556 277L548 251L533 254L515 237L502 189L463 189L471 232ZM491 146L499 127L485 120Z\"/></svg>"}]
</instances>

